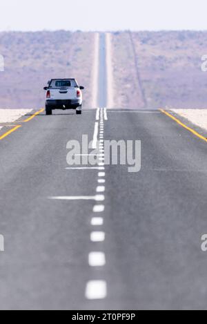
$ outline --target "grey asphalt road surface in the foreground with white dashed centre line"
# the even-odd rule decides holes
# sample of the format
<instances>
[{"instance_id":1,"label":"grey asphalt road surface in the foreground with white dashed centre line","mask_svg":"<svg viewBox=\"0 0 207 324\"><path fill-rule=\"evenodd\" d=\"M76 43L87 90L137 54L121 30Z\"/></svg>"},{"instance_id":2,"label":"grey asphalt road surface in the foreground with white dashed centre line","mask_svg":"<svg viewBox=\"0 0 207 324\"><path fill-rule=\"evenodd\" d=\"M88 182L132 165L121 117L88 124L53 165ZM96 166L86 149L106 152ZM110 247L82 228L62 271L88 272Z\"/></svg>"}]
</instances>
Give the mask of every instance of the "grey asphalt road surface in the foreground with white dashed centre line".
<instances>
[{"instance_id":1,"label":"grey asphalt road surface in the foreground with white dashed centre line","mask_svg":"<svg viewBox=\"0 0 207 324\"><path fill-rule=\"evenodd\" d=\"M155 110L25 118L0 141L0 308L206 309L206 142ZM70 169L96 123L141 140L141 171Z\"/></svg>"}]
</instances>

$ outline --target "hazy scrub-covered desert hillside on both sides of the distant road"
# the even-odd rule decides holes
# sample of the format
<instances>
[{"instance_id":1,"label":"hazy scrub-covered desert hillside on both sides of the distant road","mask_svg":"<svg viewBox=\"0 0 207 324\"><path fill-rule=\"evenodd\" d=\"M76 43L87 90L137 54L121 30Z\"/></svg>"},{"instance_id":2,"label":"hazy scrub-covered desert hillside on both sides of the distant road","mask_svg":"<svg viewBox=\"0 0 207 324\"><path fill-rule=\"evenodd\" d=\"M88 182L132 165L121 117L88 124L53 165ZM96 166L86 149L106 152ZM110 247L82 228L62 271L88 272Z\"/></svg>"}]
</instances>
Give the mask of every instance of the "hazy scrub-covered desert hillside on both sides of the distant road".
<instances>
[{"instance_id":1,"label":"hazy scrub-covered desert hillside on both sides of the distant road","mask_svg":"<svg viewBox=\"0 0 207 324\"><path fill-rule=\"evenodd\" d=\"M84 107L95 108L95 39L94 32L1 32L0 108L41 108L52 77L76 77L86 86ZM110 108L207 108L207 32L112 32L110 48Z\"/></svg>"}]
</instances>

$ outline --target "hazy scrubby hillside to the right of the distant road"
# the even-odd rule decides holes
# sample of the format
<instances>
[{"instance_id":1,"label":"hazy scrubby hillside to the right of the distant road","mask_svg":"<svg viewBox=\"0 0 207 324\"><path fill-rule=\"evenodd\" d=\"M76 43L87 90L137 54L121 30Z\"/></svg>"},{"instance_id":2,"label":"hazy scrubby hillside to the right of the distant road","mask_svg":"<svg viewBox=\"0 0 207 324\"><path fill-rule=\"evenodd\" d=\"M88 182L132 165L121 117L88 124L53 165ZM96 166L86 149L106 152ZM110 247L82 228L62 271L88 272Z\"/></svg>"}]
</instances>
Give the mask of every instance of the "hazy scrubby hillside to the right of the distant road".
<instances>
[{"instance_id":1,"label":"hazy scrubby hillside to the right of the distant road","mask_svg":"<svg viewBox=\"0 0 207 324\"><path fill-rule=\"evenodd\" d=\"M116 32L112 39L117 107L207 108L207 32Z\"/></svg>"}]
</instances>

